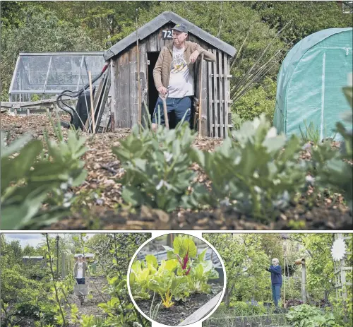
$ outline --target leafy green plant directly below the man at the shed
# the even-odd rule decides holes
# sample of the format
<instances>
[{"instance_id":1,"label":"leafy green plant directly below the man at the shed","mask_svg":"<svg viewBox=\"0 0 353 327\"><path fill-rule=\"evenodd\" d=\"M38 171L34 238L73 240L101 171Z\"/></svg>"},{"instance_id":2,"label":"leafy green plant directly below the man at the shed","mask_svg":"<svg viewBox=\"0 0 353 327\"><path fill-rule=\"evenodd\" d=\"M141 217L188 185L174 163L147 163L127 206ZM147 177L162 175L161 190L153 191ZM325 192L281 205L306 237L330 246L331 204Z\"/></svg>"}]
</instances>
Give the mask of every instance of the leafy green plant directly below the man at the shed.
<instances>
[{"instance_id":1,"label":"leafy green plant directly below the man at the shed","mask_svg":"<svg viewBox=\"0 0 353 327\"><path fill-rule=\"evenodd\" d=\"M159 126L156 133L135 126L131 135L113 148L126 170L121 180L124 200L132 206L146 204L167 212L182 206L196 177L189 169L194 137L187 124L170 130Z\"/></svg>"}]
</instances>

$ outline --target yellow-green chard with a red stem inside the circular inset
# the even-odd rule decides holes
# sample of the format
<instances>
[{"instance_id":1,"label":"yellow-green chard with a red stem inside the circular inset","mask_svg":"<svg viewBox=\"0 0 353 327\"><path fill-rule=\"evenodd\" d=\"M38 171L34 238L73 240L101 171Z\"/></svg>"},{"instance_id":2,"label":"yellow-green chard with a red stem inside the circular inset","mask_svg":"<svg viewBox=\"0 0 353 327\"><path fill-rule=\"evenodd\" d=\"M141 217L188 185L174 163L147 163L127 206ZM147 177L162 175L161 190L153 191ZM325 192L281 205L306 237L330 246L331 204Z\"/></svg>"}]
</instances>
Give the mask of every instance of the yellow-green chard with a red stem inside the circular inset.
<instances>
[{"instance_id":1,"label":"yellow-green chard with a red stem inside the circular inset","mask_svg":"<svg viewBox=\"0 0 353 327\"><path fill-rule=\"evenodd\" d=\"M152 255L145 261L135 261L130 272L130 287L135 299L150 298L156 292L165 308L172 307L173 301L186 301L191 294L210 292L208 280L218 278L211 260L205 260L206 249L197 254L196 244L187 236L174 239L174 249L167 249L167 260L157 263ZM146 293L149 293L147 296Z\"/></svg>"}]
</instances>

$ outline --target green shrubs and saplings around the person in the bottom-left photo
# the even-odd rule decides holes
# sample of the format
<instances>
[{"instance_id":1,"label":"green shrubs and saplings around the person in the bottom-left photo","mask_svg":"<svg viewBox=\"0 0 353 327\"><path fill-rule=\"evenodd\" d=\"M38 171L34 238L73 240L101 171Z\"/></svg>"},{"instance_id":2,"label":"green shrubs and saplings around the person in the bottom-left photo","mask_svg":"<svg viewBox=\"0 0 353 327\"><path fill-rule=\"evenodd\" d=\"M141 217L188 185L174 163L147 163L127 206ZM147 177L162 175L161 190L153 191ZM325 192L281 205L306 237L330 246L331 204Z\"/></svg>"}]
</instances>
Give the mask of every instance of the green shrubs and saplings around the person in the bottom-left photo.
<instances>
[{"instance_id":1,"label":"green shrubs and saplings around the person in the bottom-left photo","mask_svg":"<svg viewBox=\"0 0 353 327\"><path fill-rule=\"evenodd\" d=\"M148 234L96 234L88 239L85 234L66 234L58 242L57 237L43 234L43 242L36 248L21 249L18 241L8 242L5 234L1 234L1 326L29 323L40 327L150 326L133 307L126 285L131 255L149 237ZM28 250L30 256L44 256L43 261L25 263L22 256ZM91 289L101 300L95 308L96 314L87 314L89 309L83 314L74 302L73 254L82 251L95 253L99 263L95 273L89 263L90 275L106 280L100 290L94 280L90 281ZM64 277L65 270L68 275ZM38 277L38 273L42 275Z\"/></svg>"}]
</instances>

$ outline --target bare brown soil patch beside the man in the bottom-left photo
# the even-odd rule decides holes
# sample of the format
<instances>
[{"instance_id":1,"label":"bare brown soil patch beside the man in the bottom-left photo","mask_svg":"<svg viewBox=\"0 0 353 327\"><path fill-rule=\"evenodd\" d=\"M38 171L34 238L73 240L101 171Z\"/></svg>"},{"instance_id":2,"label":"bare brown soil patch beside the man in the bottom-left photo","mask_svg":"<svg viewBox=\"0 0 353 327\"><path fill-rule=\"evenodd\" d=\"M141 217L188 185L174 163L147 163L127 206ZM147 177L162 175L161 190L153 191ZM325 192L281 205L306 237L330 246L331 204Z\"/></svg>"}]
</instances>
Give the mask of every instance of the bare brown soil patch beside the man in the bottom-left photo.
<instances>
[{"instance_id":1,"label":"bare brown soil patch beside the man in the bottom-left photo","mask_svg":"<svg viewBox=\"0 0 353 327\"><path fill-rule=\"evenodd\" d=\"M78 316L82 316L83 314L90 316L93 315L95 317L101 316L104 317L103 310L98 307L98 304L109 301L110 296L106 293L102 292L103 287L107 286L107 278L104 276L91 276L88 278L88 283L90 287L90 295L85 297L83 304L80 304L80 299L78 296L71 294L68 295L68 302L70 304L76 304L78 307ZM71 311L66 308L66 317L70 318L68 322L70 327L79 327L80 323L73 323L71 320Z\"/></svg>"}]
</instances>

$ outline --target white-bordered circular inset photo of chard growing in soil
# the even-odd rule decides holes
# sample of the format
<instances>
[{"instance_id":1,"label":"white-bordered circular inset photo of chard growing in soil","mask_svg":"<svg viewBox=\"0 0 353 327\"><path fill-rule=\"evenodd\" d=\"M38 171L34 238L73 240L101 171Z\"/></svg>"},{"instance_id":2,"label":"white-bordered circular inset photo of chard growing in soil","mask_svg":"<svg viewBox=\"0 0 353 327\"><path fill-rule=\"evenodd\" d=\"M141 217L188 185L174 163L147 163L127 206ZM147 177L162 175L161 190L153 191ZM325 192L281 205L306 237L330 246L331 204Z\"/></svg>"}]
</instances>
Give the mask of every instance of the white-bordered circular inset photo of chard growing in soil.
<instances>
[{"instance_id":1,"label":"white-bordered circular inset photo of chard growing in soil","mask_svg":"<svg viewBox=\"0 0 353 327\"><path fill-rule=\"evenodd\" d=\"M225 292L225 268L212 245L189 234L145 242L128 269L128 292L145 318L187 326L208 318Z\"/></svg>"}]
</instances>

